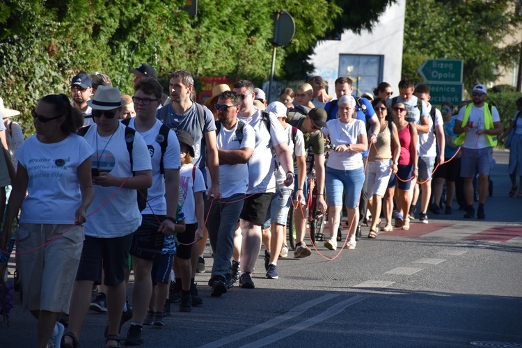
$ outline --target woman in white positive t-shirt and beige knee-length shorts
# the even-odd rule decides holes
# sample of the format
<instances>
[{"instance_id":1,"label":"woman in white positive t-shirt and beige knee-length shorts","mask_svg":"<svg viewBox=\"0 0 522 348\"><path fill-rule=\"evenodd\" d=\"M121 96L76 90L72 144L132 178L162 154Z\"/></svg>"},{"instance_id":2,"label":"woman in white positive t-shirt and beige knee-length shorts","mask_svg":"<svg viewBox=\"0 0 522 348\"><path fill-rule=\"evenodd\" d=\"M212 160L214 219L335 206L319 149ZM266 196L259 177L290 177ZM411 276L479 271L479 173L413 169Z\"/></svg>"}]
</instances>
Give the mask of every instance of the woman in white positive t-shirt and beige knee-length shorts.
<instances>
[{"instance_id":1,"label":"woman in white positive t-shirt and beige knee-length shorts","mask_svg":"<svg viewBox=\"0 0 522 348\"><path fill-rule=\"evenodd\" d=\"M90 156L94 150L74 134L83 123L83 116L66 95L47 95L33 110L36 134L15 153L17 176L3 235L10 234L23 201L17 269L23 306L38 319L38 347L42 348L60 346L64 328L56 320L69 313L84 244L83 224L93 200Z\"/></svg>"}]
</instances>

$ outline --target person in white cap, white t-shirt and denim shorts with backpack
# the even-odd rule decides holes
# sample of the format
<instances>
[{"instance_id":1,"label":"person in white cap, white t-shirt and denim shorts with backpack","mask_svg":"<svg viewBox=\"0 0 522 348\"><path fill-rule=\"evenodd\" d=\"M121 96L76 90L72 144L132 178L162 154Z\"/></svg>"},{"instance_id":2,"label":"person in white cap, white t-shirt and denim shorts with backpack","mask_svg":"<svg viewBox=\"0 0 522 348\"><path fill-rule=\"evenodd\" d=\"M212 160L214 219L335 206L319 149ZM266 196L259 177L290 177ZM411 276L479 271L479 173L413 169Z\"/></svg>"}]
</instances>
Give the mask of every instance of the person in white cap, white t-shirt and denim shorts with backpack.
<instances>
[{"instance_id":1,"label":"person in white cap, white t-shirt and denim shorts with backpack","mask_svg":"<svg viewBox=\"0 0 522 348\"><path fill-rule=\"evenodd\" d=\"M288 136L288 149L296 161L296 184L297 187L303 187L306 179L306 150L304 147L303 132L286 122L287 108L282 102L270 103L267 107L267 112L274 113L283 126L283 129L285 129L285 133ZM288 210L290 209L290 194L292 193L290 187L287 188L282 186L283 181L285 180L285 173L283 167L280 166L280 161L277 156L275 159L278 164L276 171L276 184L279 186L276 189L274 196L272 196L270 207L267 212L267 223L270 225L267 226L267 224L265 224L265 226L263 226L263 228L267 228L267 233L263 231L263 237L266 239L264 240L264 245L266 247L264 267L266 268L267 278L269 279L278 278L277 260L279 258L279 253L282 250L281 247L285 244L286 234L284 229L286 228ZM286 253L288 253L288 246L286 246Z\"/></svg>"}]
</instances>

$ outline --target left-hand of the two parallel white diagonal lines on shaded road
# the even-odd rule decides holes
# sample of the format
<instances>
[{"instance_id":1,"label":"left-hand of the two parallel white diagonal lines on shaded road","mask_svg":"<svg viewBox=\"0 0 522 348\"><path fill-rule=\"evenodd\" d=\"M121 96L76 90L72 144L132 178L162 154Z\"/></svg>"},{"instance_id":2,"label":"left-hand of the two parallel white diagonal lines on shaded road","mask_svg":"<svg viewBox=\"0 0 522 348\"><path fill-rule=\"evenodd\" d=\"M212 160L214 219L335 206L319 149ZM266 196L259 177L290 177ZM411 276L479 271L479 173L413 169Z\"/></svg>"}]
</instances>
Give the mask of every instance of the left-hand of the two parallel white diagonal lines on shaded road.
<instances>
[{"instance_id":1,"label":"left-hand of the two parallel white diagonal lines on shaded road","mask_svg":"<svg viewBox=\"0 0 522 348\"><path fill-rule=\"evenodd\" d=\"M206 345L201 346L201 348L213 348L213 347L220 347L222 345L228 345L229 343L240 340L242 338L245 338L248 335L254 335L255 333L269 329L272 326L275 326L275 325L285 322L289 319L292 319L298 315L301 315L302 313L306 312L306 310L309 310L313 306L317 306L319 303L330 301L331 299L333 299L337 296L340 296L340 295L326 294L324 296L318 297L317 299L313 299L311 301L302 303L299 306L292 308L291 310L289 310L287 313L285 313L283 315L280 315L278 317L268 320L267 322L264 322L264 323L258 324L256 326L253 326L251 328L248 328L245 331L242 331L240 333L235 333L234 335L230 335L228 337L221 338L221 340L216 340L214 342L207 343Z\"/></svg>"}]
</instances>

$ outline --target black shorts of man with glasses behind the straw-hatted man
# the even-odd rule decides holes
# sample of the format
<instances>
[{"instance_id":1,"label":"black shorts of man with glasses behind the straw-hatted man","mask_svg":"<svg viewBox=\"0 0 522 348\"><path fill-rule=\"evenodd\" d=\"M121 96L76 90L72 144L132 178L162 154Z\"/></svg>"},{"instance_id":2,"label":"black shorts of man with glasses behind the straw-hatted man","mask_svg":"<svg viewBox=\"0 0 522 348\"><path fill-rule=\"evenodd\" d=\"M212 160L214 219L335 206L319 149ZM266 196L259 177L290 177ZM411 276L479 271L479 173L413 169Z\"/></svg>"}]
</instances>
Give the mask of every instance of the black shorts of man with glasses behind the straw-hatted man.
<instances>
[{"instance_id":1,"label":"black shorts of man with glasses behind the straw-hatted man","mask_svg":"<svg viewBox=\"0 0 522 348\"><path fill-rule=\"evenodd\" d=\"M147 214L142 216L141 226L134 232L132 238L130 249L132 256L152 261L157 255L161 255L165 235L158 232L158 229L159 221L164 221L164 219L165 215Z\"/></svg>"}]
</instances>

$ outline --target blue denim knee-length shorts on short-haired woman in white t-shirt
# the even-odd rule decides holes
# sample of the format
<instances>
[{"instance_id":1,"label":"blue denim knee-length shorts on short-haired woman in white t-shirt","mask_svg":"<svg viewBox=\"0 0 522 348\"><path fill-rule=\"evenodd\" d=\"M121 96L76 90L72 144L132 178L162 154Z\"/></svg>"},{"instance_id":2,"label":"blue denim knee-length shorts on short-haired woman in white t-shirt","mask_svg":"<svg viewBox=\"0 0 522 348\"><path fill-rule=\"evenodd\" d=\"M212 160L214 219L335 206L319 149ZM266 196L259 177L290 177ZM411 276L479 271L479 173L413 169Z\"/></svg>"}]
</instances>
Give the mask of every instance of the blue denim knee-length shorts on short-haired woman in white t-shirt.
<instances>
[{"instance_id":1,"label":"blue denim knee-length shorts on short-haired woman in white t-shirt","mask_svg":"<svg viewBox=\"0 0 522 348\"><path fill-rule=\"evenodd\" d=\"M359 205L359 196L364 184L364 167L341 171L326 167L326 195L328 205L342 206L342 191L345 191L345 205L351 209Z\"/></svg>"}]
</instances>

